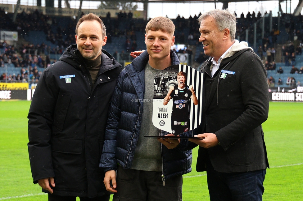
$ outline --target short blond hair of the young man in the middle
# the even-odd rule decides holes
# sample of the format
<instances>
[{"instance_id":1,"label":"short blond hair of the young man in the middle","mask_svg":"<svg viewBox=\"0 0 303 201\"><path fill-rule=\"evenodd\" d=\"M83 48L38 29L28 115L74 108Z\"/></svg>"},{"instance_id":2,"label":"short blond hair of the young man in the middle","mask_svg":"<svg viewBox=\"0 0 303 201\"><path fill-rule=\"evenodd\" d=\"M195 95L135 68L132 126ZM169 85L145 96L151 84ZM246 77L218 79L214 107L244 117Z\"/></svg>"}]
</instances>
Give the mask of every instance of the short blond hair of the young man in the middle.
<instances>
[{"instance_id":1,"label":"short blond hair of the young man in the middle","mask_svg":"<svg viewBox=\"0 0 303 201\"><path fill-rule=\"evenodd\" d=\"M155 17L151 20L146 25L145 32L147 33L148 31L158 31L161 30L162 32L167 32L171 36L174 35L175 32L175 25L173 21L166 17Z\"/></svg>"}]
</instances>

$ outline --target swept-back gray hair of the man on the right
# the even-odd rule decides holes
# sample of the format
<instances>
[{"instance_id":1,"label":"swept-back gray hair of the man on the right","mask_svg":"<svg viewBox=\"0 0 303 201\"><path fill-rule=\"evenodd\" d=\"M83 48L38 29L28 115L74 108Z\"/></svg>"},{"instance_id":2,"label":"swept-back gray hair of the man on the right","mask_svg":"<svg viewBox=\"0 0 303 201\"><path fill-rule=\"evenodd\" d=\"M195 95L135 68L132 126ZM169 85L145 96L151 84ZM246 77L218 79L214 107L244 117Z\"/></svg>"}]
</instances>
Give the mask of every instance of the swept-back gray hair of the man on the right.
<instances>
[{"instance_id":1,"label":"swept-back gray hair of the man on the right","mask_svg":"<svg viewBox=\"0 0 303 201\"><path fill-rule=\"evenodd\" d=\"M228 9L220 10L214 9L207 11L200 15L198 22L201 24L201 21L208 16L211 16L215 19L215 23L219 29L219 31L223 31L225 28L229 29L231 41L235 40L236 37L236 15L229 11Z\"/></svg>"}]
</instances>

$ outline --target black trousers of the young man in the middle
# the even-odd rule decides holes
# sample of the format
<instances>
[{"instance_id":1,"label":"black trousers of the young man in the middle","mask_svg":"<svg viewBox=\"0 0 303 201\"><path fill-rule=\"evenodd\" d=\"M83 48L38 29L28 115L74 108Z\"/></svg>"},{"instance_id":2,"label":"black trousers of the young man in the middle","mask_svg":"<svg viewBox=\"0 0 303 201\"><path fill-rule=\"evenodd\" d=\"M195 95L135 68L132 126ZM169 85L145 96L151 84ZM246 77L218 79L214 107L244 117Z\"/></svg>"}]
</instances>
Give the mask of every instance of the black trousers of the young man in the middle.
<instances>
[{"instance_id":1,"label":"black trousers of the young man in the middle","mask_svg":"<svg viewBox=\"0 0 303 201\"><path fill-rule=\"evenodd\" d=\"M119 165L113 201L182 201L182 175L165 179L163 186L161 174Z\"/></svg>"}]
</instances>

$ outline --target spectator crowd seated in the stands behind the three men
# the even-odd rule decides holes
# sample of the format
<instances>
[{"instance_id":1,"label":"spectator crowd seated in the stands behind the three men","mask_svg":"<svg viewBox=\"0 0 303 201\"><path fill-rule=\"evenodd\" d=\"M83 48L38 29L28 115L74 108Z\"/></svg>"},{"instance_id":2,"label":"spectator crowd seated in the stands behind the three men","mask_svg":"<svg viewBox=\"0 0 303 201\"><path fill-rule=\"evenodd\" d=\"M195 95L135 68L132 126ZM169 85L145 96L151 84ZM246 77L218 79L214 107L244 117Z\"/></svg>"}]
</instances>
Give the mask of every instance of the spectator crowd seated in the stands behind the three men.
<instances>
[{"instance_id":1,"label":"spectator crowd seated in the stands behind the three men","mask_svg":"<svg viewBox=\"0 0 303 201\"><path fill-rule=\"evenodd\" d=\"M84 13L83 13L84 15ZM197 19L201 15L190 16L185 19L183 16L177 16L173 19L175 24L175 44L185 44L196 46L198 53L194 56L191 48L185 49L174 49L175 52L188 53L190 60L194 56L193 60L199 64L208 59L203 52L203 49L199 48L201 44L198 42L200 34L197 32L199 24ZM237 37L243 41L243 33L247 28L256 22L259 23L261 17L265 16L265 21L269 20L268 16L271 15L265 12L264 15L255 12L248 12L247 14L237 15ZM68 45L75 42L75 27L77 19L62 17L62 16L48 16L40 13L38 10L27 13L21 12L17 15L16 21L12 21L12 14L5 13L0 9L0 28L2 30L18 31L19 37L25 37L30 31L42 31L46 36L46 41L48 45L44 42L40 44L19 44L16 49L13 45L8 45L5 41L0 43L0 67L4 67L6 64L15 67L21 67L26 73L20 73L19 75L8 75L9 81L24 81L30 80L30 82L36 82L39 78L38 68L46 68L52 62L56 60L51 60L51 54L61 55L63 51L68 47ZM285 28L285 32L288 33L289 39L296 39L298 41L302 40L302 30L303 21L301 14L299 16L293 16L291 14L282 14L282 25ZM102 18L106 26L107 43L111 43L112 40L122 40L124 44L121 44L119 49L121 52L116 51L113 53L114 57L117 59L118 55L122 60L130 60L129 52L135 50L141 50L138 45L137 37L138 34L141 35L145 32L145 26L148 21L143 19L134 19L133 13L129 11L120 11L117 16L112 17L110 12L107 13L106 17ZM59 23L60 22L60 23ZM269 23L266 23L269 24ZM277 37L280 34L278 30L277 18L273 19L273 26L270 30L269 26L265 26L264 38L262 39L262 44L256 50L256 53L265 62L266 70L277 71L278 74L283 74L283 69L281 66L276 69L276 49L275 44L277 42ZM250 29L251 31L252 29ZM257 33L260 34L262 29L257 26ZM253 34L249 34L248 42L253 40ZM260 37L260 36L258 36ZM53 45L49 45L49 43ZM187 46L189 47L189 46ZM284 66L294 66L290 73L302 73L303 67L296 66L296 57L301 55L302 50L300 45L294 45L292 42L283 45L282 47L282 62ZM278 61L280 62L280 61ZM28 70L27 70L28 69ZM1 78L6 76L1 75ZM20 78L19 78L20 77ZM16 78L16 79L15 79ZM279 85L283 83L281 80ZM285 83L286 80L285 80ZM275 86L274 78L269 77L269 85Z\"/></svg>"}]
</instances>

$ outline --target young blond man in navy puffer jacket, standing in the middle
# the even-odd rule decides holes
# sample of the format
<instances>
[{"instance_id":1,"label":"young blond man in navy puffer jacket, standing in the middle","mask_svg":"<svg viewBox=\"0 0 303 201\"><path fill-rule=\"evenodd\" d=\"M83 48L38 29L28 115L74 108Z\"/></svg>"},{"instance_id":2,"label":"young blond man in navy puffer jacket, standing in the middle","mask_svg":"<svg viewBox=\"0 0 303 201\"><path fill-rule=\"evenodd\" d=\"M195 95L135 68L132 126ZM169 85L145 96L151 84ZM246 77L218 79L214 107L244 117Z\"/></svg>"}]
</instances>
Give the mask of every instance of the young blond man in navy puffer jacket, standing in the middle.
<instances>
[{"instance_id":1,"label":"young blond man in navy puffer jacket, standing in the middle","mask_svg":"<svg viewBox=\"0 0 303 201\"><path fill-rule=\"evenodd\" d=\"M152 124L152 100L154 75L179 64L170 49L174 28L168 18L151 19L145 29L147 51L125 66L117 81L100 161L114 201L182 200L182 174L191 171L191 151L168 149L144 138L166 134Z\"/></svg>"}]
</instances>

